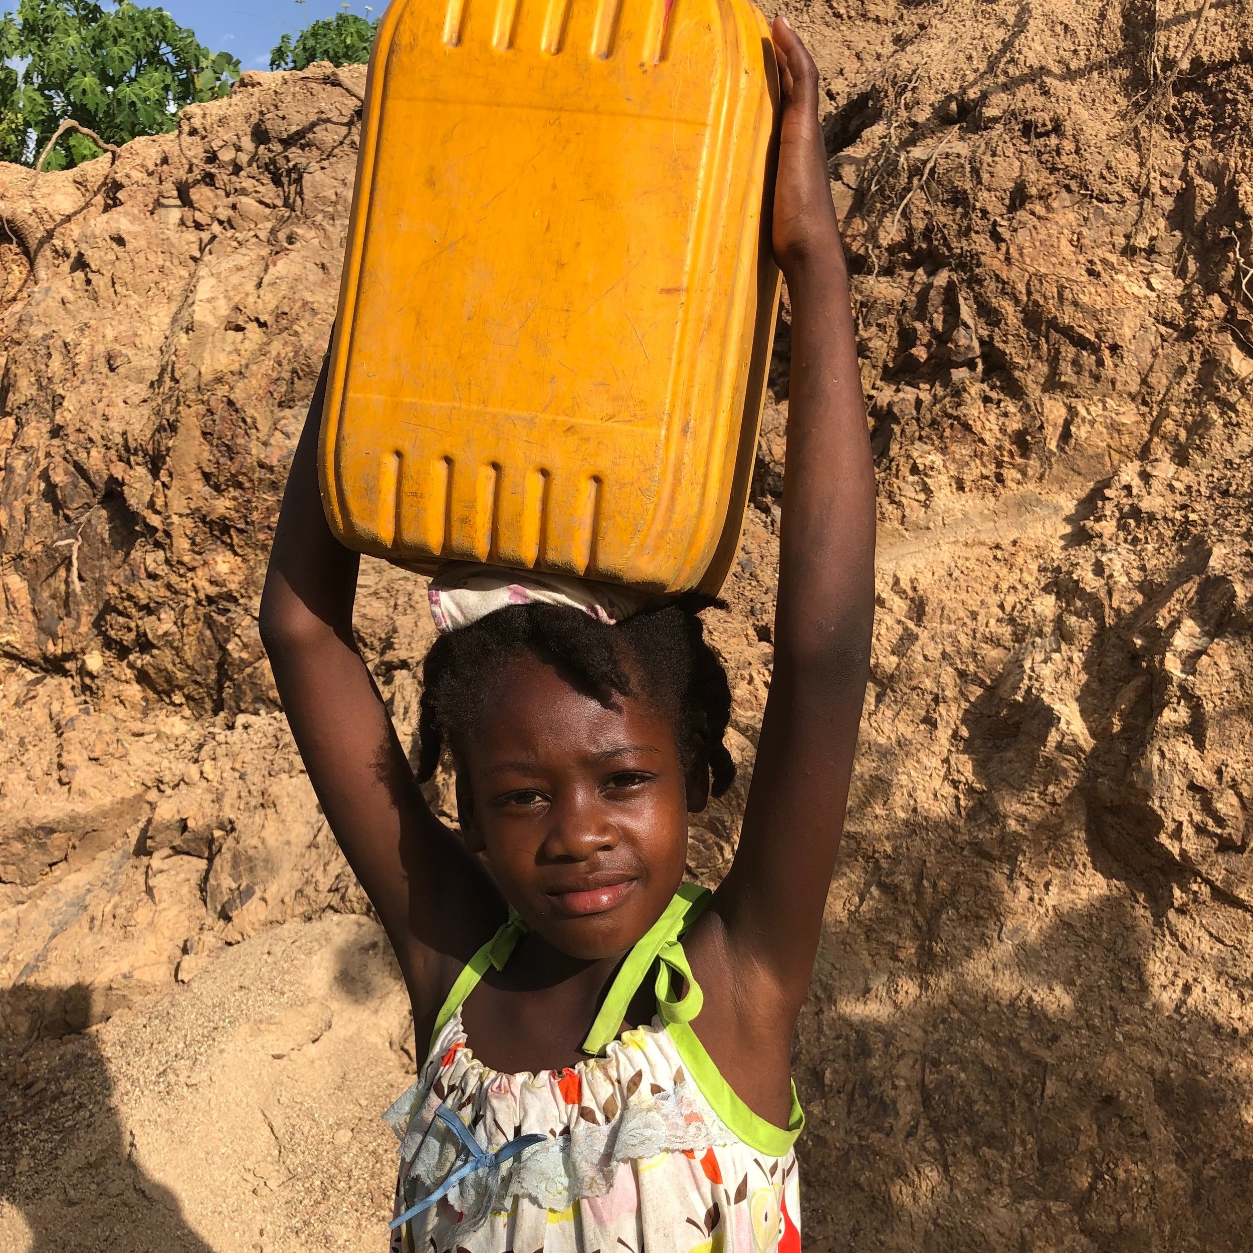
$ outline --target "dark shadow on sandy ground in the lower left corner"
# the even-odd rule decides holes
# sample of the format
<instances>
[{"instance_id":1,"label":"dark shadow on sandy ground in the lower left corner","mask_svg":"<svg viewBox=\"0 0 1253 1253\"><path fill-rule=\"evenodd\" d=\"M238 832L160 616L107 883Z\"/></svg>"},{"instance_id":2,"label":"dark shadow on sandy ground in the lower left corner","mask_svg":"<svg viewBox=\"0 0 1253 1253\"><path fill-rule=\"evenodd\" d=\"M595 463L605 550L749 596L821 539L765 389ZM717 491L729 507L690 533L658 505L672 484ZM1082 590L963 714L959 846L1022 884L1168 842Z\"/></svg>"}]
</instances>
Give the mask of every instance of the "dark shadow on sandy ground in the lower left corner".
<instances>
[{"instance_id":1,"label":"dark shadow on sandy ground in the lower left corner","mask_svg":"<svg viewBox=\"0 0 1253 1253\"><path fill-rule=\"evenodd\" d=\"M86 987L48 989L58 1012L85 1004ZM5 1040L30 1012L30 997L0 994L0 1247L29 1253L213 1253L183 1219L174 1194L132 1159L113 1106L113 1079L90 1032ZM43 1024L44 1034L56 1024ZM13 1243L16 1234L19 1243Z\"/></svg>"}]
</instances>

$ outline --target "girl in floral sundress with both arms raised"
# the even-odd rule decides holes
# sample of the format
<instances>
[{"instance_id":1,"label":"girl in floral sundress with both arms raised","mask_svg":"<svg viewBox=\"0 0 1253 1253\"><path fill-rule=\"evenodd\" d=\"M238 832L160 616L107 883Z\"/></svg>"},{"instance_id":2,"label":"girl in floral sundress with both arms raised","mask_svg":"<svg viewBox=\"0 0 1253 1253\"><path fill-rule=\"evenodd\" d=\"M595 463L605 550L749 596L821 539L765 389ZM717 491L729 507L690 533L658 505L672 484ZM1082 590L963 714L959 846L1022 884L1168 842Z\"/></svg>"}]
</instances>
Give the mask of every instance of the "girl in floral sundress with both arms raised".
<instances>
[{"instance_id":1,"label":"girl in floral sundress with both arms raised","mask_svg":"<svg viewBox=\"0 0 1253 1253\"><path fill-rule=\"evenodd\" d=\"M734 773L702 604L485 568L437 578L415 779L353 642L357 556L322 514L325 372L313 395L261 629L430 1041L390 1111L395 1248L799 1253L791 1040L867 678L875 480L818 75L783 18L773 39L788 470L773 680L715 892L682 882L687 814ZM461 836L417 787L444 748Z\"/></svg>"}]
</instances>

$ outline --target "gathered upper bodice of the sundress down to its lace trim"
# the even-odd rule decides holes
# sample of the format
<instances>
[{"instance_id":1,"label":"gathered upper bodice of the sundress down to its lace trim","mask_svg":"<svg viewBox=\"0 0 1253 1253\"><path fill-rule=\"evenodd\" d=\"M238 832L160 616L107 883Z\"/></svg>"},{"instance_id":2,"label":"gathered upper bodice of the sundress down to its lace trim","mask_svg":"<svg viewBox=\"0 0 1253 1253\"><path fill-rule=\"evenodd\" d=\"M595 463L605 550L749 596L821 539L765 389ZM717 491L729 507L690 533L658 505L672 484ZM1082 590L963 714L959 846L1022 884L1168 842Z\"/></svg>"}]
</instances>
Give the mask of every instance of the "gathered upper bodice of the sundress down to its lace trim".
<instances>
[{"instance_id":1,"label":"gathered upper bodice of the sundress down to its lace trim","mask_svg":"<svg viewBox=\"0 0 1253 1253\"><path fill-rule=\"evenodd\" d=\"M659 1020L623 1032L606 1056L571 1070L505 1075L471 1055L460 1015L454 1016L419 1081L385 1115L401 1139L406 1205L430 1195L467 1160L456 1134L435 1118L441 1104L487 1152L519 1135L546 1136L451 1189L447 1200L464 1215L466 1229L492 1210L509 1209L515 1197L556 1210L580 1198L603 1197L623 1162L738 1143L684 1073Z\"/></svg>"}]
</instances>

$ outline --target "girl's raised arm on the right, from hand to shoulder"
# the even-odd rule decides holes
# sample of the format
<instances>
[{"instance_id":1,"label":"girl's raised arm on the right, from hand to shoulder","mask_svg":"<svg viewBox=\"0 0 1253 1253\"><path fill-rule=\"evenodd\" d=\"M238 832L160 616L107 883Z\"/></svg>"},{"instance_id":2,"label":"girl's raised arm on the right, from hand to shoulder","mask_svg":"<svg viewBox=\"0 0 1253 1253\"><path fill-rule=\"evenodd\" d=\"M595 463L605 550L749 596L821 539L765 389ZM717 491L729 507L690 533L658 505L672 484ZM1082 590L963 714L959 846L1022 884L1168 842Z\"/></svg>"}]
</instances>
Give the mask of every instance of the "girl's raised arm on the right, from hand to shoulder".
<instances>
[{"instance_id":1,"label":"girl's raised arm on the right, from hand to shoulder","mask_svg":"<svg viewBox=\"0 0 1253 1253\"><path fill-rule=\"evenodd\" d=\"M792 299L792 377L774 674L736 860L714 897L737 1000L792 1024L843 829L875 613L875 466L818 73L774 21L783 91L774 256Z\"/></svg>"}]
</instances>

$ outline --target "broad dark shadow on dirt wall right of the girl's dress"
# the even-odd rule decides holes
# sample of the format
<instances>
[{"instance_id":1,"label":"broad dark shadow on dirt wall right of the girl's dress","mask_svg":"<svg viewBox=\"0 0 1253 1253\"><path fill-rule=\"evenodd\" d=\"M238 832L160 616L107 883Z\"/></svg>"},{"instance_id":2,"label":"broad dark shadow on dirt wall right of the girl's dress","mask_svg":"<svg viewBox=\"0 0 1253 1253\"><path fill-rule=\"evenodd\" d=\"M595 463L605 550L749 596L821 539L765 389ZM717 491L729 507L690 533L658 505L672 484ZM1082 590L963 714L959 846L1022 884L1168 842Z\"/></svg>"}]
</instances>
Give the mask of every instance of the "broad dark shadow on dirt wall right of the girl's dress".
<instances>
[{"instance_id":1,"label":"broad dark shadow on dirt wall right of the girl's dress","mask_svg":"<svg viewBox=\"0 0 1253 1253\"><path fill-rule=\"evenodd\" d=\"M970 962L897 1016L819 1007L798 1073L809 1253L1244 1253L1247 1046L1160 1005L1146 940L1105 898L1015 942L1012 995Z\"/></svg>"}]
</instances>

